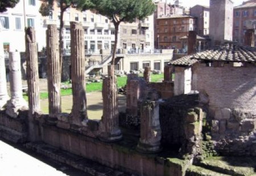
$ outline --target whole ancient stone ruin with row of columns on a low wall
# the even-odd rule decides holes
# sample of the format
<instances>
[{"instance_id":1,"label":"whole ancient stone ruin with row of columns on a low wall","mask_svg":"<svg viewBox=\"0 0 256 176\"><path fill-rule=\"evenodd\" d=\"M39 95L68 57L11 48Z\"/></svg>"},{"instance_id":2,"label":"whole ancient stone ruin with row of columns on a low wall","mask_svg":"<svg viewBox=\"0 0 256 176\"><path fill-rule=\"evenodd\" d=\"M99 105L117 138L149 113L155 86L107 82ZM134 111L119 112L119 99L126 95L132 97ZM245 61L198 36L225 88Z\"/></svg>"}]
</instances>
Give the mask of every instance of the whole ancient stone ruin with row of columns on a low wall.
<instances>
[{"instance_id":1,"label":"whole ancient stone ruin with row of columns on a low wall","mask_svg":"<svg viewBox=\"0 0 256 176\"><path fill-rule=\"evenodd\" d=\"M2 72L4 69L0 69L2 138L26 144L27 148L81 170L91 170L80 162L84 160L82 158L87 158L109 168L138 175L189 175L188 168L191 164L218 152L236 154L237 146L245 151L240 154L256 156L256 150L253 151L255 139L252 139L255 137L256 126L254 116L240 109L222 108L217 109L211 119L209 101L202 101L202 93L188 91L188 83L193 87L193 79L185 78L189 75L187 67L164 67L164 80L161 83L150 82L150 67L145 68L144 78L130 74L127 79L126 113L121 114L118 112L117 78L112 74L114 67L109 66L109 76L103 80L102 119L90 120L86 111L84 30L81 24L73 22L73 106L71 114L61 113L61 76L56 32L56 25L48 25L49 114L40 112L38 55L34 28L26 30L28 105L22 98L18 52L10 54L10 100L7 95L5 73ZM1 56L0 50L0 66L5 68ZM181 58L182 61L183 59ZM173 78L174 72L180 72L180 75L177 74ZM175 83L185 85L177 86ZM238 123L233 123L234 120ZM212 139L221 139L221 135L231 136L231 128L236 128L241 135L243 134L243 138L236 136L236 139L229 139L236 149L232 150L230 145L225 145L226 141L213 144ZM241 140L250 140L251 144L236 146L237 141L241 144ZM248 147L251 147L250 152ZM49 148L51 150L47 150ZM68 156L74 154L75 158L80 159L71 162L68 158L60 156L60 151L68 153Z\"/></svg>"}]
</instances>

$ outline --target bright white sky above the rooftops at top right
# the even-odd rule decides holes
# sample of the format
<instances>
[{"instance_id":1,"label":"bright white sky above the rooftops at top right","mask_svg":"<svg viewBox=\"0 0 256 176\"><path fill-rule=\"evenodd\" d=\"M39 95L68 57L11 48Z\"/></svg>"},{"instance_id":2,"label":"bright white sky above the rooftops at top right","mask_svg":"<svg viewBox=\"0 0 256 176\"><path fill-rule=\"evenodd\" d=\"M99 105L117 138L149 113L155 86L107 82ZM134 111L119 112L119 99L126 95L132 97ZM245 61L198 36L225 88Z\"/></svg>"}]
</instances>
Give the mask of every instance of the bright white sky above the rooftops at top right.
<instances>
[{"instance_id":1,"label":"bright white sky above the rooftops at top right","mask_svg":"<svg viewBox=\"0 0 256 176\"><path fill-rule=\"evenodd\" d=\"M174 3L174 0L167 0L171 3ZM246 0L233 0L234 6L241 5L243 1ZM195 5L204 5L209 6L209 0L180 0L181 5L185 7L193 7Z\"/></svg>"}]
</instances>

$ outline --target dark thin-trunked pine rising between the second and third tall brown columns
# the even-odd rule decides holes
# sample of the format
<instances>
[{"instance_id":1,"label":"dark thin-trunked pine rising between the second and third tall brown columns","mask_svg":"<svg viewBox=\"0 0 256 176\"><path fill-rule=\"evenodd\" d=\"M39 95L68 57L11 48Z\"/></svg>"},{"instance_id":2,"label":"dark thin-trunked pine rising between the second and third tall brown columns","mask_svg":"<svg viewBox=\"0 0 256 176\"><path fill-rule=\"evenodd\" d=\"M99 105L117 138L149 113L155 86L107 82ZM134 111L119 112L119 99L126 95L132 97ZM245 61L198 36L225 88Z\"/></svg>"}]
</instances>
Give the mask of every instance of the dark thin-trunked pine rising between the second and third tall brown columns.
<instances>
[{"instance_id":1,"label":"dark thin-trunked pine rising between the second and third tall brown columns","mask_svg":"<svg viewBox=\"0 0 256 176\"><path fill-rule=\"evenodd\" d=\"M0 0L1 1L1 0ZM63 60L63 14L64 12L69 8L77 8L78 10L81 10L82 7L90 7L92 6L90 4L89 0L40 0L42 1L42 5L40 7L40 14L42 16L49 16L52 14L53 11L53 5L54 3L58 3L60 6L60 31L59 31L59 52L60 52L60 74L62 71L62 60Z\"/></svg>"}]
</instances>

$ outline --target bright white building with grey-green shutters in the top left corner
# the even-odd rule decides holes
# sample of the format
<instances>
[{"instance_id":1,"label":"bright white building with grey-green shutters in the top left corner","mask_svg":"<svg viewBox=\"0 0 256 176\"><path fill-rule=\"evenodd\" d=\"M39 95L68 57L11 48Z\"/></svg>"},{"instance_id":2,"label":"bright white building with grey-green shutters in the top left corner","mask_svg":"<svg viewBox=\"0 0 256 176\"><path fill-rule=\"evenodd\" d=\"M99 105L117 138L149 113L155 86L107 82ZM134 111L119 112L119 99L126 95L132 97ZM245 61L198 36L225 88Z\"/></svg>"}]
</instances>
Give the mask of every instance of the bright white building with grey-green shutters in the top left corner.
<instances>
[{"instance_id":1,"label":"bright white building with grey-green shutters in the top left corner","mask_svg":"<svg viewBox=\"0 0 256 176\"><path fill-rule=\"evenodd\" d=\"M1 36L5 52L18 50L24 52L25 27L35 27L38 49L44 44L42 35L42 16L39 13L40 1L20 0L14 8L8 8L6 12L0 13Z\"/></svg>"}]
</instances>

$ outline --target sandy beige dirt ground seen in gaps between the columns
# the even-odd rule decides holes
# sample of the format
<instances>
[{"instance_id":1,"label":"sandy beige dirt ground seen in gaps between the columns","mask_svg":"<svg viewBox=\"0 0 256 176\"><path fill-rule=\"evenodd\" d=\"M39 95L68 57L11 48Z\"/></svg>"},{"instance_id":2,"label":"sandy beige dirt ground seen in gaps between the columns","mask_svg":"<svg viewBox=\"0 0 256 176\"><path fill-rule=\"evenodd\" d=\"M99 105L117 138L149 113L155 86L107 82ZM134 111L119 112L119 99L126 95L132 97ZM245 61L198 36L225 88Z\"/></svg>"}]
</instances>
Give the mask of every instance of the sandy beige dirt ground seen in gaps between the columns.
<instances>
[{"instance_id":1,"label":"sandy beige dirt ground seen in gaps between the columns","mask_svg":"<svg viewBox=\"0 0 256 176\"><path fill-rule=\"evenodd\" d=\"M87 98L87 112L89 119L101 119L102 116L102 93L90 92L86 93ZM61 110L63 113L71 113L72 109L72 96L61 97ZM48 99L40 100L41 109L43 113L48 113ZM118 108L119 111L125 111L126 96L118 95Z\"/></svg>"}]
</instances>

